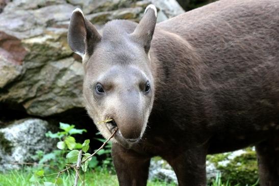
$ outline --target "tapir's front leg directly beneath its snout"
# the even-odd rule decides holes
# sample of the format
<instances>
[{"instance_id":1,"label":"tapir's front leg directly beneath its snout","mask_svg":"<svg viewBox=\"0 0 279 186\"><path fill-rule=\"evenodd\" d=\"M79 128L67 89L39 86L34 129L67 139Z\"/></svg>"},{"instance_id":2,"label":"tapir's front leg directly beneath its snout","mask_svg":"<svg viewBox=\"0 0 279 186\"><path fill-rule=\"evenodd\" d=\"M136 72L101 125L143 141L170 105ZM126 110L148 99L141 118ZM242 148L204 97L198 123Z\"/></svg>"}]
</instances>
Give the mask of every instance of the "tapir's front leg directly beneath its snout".
<instances>
[{"instance_id":1,"label":"tapir's front leg directly beneath its snout","mask_svg":"<svg viewBox=\"0 0 279 186\"><path fill-rule=\"evenodd\" d=\"M120 186L145 186L150 157L146 157L114 143L112 159Z\"/></svg>"}]
</instances>

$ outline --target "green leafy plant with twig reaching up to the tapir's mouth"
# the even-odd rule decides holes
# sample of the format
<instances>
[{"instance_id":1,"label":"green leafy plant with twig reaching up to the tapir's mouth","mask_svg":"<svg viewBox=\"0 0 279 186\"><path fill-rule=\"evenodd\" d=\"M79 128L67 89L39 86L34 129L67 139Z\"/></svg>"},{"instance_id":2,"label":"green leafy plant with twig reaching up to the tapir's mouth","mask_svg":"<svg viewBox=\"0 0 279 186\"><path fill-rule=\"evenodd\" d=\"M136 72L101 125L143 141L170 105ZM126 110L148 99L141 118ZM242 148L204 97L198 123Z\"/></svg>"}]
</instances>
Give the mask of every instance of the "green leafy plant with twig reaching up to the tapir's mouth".
<instances>
[{"instance_id":1,"label":"green leafy plant with twig reaching up to the tapir's mouth","mask_svg":"<svg viewBox=\"0 0 279 186\"><path fill-rule=\"evenodd\" d=\"M67 173L70 176L69 171L71 168L73 168L75 169L74 185L77 185L79 178L81 179L81 176L79 174L80 168L83 171L83 174L85 175L85 172L88 170L88 167L91 168L97 167L98 165L97 158L93 156L95 154L99 156L105 155L106 159L105 161L103 161L102 167L108 167L108 165L111 164L112 162L112 158L110 157L111 143L108 142L113 137L117 129L113 132L113 134L108 140L98 138L97 140L103 142L103 145L99 149L95 150L94 153L90 154L88 153L90 140L85 140L81 144L76 142L75 138L72 136L77 134L83 134L83 132L86 132L86 130L77 129L74 127L75 127L74 125L60 123L59 128L62 129L62 131L56 133L48 131L45 134L46 137L59 140L57 142L58 149L47 154L43 154L43 151L37 151L37 154L34 156L34 158L40 159L39 164L44 164L43 166L48 166L51 168L57 166L58 169L56 168L55 169L60 171L52 174L45 174L44 170L36 171L29 179L30 182L36 184L40 183L43 185L62 185L63 180L60 178L60 175L67 171ZM45 165L45 163L48 163L49 165ZM57 177L52 182L46 180L47 176L52 176L52 175L57 175Z\"/></svg>"}]
</instances>

